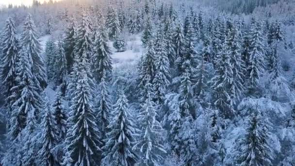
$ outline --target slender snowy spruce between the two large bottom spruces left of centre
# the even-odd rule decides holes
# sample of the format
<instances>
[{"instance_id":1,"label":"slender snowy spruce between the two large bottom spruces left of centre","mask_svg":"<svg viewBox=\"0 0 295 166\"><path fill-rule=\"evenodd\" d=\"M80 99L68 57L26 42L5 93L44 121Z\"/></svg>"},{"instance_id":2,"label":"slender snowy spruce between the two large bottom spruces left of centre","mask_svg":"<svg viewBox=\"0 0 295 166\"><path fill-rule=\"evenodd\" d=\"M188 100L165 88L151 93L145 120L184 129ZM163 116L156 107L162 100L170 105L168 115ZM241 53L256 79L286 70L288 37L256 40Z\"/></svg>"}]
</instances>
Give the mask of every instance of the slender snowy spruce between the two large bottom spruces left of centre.
<instances>
[{"instance_id":1,"label":"slender snowy spruce between the two large bottom spruces left of centre","mask_svg":"<svg viewBox=\"0 0 295 166\"><path fill-rule=\"evenodd\" d=\"M111 96L108 87L108 78L106 73L103 71L102 78L99 83L99 95L98 101L96 104L97 120L98 120L98 129L100 130L102 139L105 139L107 133L107 126L109 125L109 118L111 112Z\"/></svg>"}]
</instances>

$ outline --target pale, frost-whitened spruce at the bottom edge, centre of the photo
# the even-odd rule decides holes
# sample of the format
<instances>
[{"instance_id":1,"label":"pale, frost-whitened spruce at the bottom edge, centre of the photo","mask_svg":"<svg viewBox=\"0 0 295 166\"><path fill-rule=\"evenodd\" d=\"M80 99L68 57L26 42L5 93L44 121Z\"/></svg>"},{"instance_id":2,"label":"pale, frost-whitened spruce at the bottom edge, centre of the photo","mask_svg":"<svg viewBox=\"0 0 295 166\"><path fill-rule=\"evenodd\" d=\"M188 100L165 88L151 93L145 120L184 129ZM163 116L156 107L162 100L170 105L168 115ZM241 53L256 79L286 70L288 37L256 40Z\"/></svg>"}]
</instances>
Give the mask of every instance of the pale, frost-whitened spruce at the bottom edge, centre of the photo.
<instances>
[{"instance_id":1,"label":"pale, frost-whitened spruce at the bottom edge, centre of the photo","mask_svg":"<svg viewBox=\"0 0 295 166\"><path fill-rule=\"evenodd\" d=\"M150 89L151 84L146 84L146 89ZM140 124L140 133L132 149L138 149L140 152L140 163L147 166L158 166L160 160L163 160L162 153L166 153L162 144L162 126L156 119L157 111L155 103L152 101L152 92L148 90L147 99L141 105L138 116Z\"/></svg>"}]
</instances>

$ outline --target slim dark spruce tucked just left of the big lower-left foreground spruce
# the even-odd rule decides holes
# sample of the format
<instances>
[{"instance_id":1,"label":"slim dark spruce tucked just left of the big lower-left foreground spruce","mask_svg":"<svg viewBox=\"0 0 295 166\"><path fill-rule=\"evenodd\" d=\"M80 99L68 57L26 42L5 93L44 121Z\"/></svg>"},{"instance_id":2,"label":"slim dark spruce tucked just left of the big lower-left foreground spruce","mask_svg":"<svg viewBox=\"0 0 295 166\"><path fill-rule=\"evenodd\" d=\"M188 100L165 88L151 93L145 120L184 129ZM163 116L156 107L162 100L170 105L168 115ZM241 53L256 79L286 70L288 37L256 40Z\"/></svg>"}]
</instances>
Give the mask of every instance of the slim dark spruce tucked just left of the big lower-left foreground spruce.
<instances>
[{"instance_id":1,"label":"slim dark spruce tucked just left of the big lower-left foreground spruce","mask_svg":"<svg viewBox=\"0 0 295 166\"><path fill-rule=\"evenodd\" d=\"M62 87L59 86L56 90L55 99L52 104L54 122L56 123L57 133L60 139L64 140L66 137L66 109L63 105Z\"/></svg>"}]
</instances>

